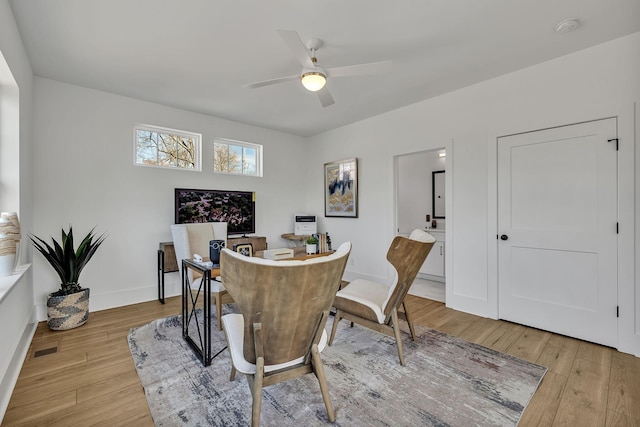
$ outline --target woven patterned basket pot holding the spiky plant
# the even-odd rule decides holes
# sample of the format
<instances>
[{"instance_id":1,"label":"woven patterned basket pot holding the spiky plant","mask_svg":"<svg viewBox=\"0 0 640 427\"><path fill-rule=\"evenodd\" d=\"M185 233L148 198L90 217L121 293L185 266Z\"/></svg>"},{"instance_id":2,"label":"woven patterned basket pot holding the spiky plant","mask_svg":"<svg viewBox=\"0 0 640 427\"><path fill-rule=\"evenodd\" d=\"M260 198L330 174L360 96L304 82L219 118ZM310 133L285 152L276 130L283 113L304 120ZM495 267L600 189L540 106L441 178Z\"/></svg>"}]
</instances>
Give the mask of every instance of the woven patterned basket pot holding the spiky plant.
<instances>
[{"instance_id":1,"label":"woven patterned basket pot holding the spiky plant","mask_svg":"<svg viewBox=\"0 0 640 427\"><path fill-rule=\"evenodd\" d=\"M87 323L89 319L89 288L75 294L47 298L47 326L54 331L66 331Z\"/></svg>"}]
</instances>

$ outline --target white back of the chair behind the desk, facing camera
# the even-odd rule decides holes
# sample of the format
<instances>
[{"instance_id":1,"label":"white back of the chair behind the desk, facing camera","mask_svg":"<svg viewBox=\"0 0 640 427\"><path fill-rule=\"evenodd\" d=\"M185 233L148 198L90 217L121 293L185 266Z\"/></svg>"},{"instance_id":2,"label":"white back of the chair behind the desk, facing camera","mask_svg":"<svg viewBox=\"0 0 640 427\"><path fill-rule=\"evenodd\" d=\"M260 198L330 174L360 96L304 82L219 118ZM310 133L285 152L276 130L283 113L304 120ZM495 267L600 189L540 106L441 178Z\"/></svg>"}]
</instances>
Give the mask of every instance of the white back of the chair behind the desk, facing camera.
<instances>
[{"instance_id":1,"label":"white back of the chair behind the desk, facing camera","mask_svg":"<svg viewBox=\"0 0 640 427\"><path fill-rule=\"evenodd\" d=\"M226 222L202 222L171 225L173 248L176 252L178 270L182 275L182 260L193 259L193 254L209 256L210 240L227 240ZM189 270L189 280L193 281L193 270Z\"/></svg>"}]
</instances>

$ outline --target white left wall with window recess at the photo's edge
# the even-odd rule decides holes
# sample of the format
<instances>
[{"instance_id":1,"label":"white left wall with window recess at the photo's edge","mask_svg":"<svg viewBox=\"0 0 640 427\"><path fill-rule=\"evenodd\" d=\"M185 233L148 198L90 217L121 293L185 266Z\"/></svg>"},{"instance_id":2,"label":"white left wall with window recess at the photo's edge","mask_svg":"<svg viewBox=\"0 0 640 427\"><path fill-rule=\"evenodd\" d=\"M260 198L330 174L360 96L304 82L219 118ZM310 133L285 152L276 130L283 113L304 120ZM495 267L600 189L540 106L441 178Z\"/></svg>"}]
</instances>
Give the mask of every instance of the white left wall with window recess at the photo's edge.
<instances>
[{"instance_id":1,"label":"white left wall with window recess at the photo's edge","mask_svg":"<svg viewBox=\"0 0 640 427\"><path fill-rule=\"evenodd\" d=\"M33 72L7 0L0 0L0 62L0 210L17 211L22 227L28 229L33 224ZM24 245L25 240L22 242ZM30 253L23 251L23 255L28 262ZM27 270L0 298L0 420L35 328L32 283L31 270Z\"/></svg>"}]
</instances>

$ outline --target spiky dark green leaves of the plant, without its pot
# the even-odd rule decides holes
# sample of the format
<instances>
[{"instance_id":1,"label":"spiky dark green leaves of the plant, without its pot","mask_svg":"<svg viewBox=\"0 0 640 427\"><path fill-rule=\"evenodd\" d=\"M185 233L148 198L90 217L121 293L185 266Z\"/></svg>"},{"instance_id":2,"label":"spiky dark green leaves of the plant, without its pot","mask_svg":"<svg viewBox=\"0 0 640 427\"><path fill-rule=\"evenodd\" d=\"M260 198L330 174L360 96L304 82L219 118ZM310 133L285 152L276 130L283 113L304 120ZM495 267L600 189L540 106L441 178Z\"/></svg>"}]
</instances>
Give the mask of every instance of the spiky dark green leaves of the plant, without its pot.
<instances>
[{"instance_id":1,"label":"spiky dark green leaves of the plant, without its pot","mask_svg":"<svg viewBox=\"0 0 640 427\"><path fill-rule=\"evenodd\" d=\"M73 230L69 226L69 233L62 229L62 240L58 243L53 237L53 247L41 238L30 235L31 243L40 252L60 277L60 289L53 296L70 295L80 292L80 273L91 257L96 253L106 235L96 236L95 227L82 239L78 249L73 248Z\"/></svg>"}]
</instances>

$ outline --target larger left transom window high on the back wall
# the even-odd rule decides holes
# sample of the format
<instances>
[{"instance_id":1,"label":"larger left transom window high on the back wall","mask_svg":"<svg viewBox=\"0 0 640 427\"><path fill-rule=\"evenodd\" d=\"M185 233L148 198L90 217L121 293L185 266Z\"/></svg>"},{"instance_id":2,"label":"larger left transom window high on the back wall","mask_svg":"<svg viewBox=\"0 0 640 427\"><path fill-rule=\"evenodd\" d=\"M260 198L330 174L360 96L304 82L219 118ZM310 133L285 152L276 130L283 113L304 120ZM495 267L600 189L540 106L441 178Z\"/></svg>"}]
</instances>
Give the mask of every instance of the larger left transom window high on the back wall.
<instances>
[{"instance_id":1,"label":"larger left transom window high on the back wall","mask_svg":"<svg viewBox=\"0 0 640 427\"><path fill-rule=\"evenodd\" d=\"M134 132L135 164L200 171L202 135L138 125Z\"/></svg>"}]
</instances>

